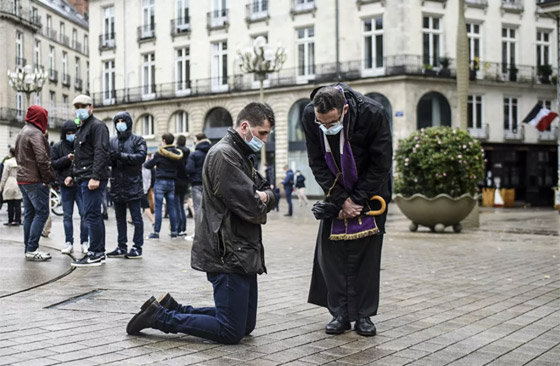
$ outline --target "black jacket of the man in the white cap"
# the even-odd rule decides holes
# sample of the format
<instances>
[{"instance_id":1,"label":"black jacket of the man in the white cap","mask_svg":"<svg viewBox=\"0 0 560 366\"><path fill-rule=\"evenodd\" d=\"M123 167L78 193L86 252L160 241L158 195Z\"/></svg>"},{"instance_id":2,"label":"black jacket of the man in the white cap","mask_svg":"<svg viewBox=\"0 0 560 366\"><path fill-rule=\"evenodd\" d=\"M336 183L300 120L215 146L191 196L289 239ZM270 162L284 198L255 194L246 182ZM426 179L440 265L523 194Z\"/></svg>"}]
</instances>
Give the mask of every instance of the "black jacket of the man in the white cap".
<instances>
[{"instance_id":1,"label":"black jacket of the man in the white cap","mask_svg":"<svg viewBox=\"0 0 560 366\"><path fill-rule=\"evenodd\" d=\"M72 174L77 182L109 178L109 129L93 115L82 121L74 140Z\"/></svg>"}]
</instances>

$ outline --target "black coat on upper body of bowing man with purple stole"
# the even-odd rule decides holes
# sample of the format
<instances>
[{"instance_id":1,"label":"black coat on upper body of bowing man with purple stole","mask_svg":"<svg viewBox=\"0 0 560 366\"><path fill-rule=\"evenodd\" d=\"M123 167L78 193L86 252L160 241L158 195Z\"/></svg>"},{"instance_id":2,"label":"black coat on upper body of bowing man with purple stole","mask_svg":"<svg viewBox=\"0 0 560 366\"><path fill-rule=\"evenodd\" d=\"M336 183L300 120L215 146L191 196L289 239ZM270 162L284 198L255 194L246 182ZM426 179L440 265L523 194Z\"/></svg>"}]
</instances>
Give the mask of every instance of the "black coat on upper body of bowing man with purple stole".
<instances>
[{"instance_id":1,"label":"black coat on upper body of bowing man with purple stole","mask_svg":"<svg viewBox=\"0 0 560 366\"><path fill-rule=\"evenodd\" d=\"M348 135L358 170L358 183L352 192L347 192L339 180L334 185L328 200L342 207L346 198L351 197L355 203L366 205L366 202L373 195L380 195L389 203L391 200L389 175L393 145L387 112L380 103L364 97L345 84L339 85L343 87L344 96L349 105L350 131L348 131ZM318 89L315 89L311 94L311 100L313 100ZM327 194L335 182L335 176L327 167L323 156L320 141L323 137L321 130L315 124L315 112L312 103L309 103L304 109L302 125L307 142L309 165L315 180ZM331 146L338 146L340 134L328 136L328 139ZM338 149L333 149L333 154L335 159L340 158ZM384 218L379 220L381 221L381 229L384 229L382 226Z\"/></svg>"}]
</instances>

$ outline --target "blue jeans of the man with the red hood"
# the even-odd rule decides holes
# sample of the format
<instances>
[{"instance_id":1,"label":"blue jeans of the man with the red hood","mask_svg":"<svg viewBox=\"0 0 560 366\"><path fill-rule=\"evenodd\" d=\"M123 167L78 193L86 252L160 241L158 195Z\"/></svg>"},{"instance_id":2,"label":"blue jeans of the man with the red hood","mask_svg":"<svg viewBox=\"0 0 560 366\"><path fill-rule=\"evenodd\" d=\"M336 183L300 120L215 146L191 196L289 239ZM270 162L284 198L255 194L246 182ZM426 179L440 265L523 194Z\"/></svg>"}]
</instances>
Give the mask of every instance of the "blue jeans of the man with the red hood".
<instances>
[{"instance_id":1,"label":"blue jeans of the man with the red hood","mask_svg":"<svg viewBox=\"0 0 560 366\"><path fill-rule=\"evenodd\" d=\"M23 196L23 242L25 252L39 248L39 239L49 217L49 187L43 183L20 184Z\"/></svg>"}]
</instances>

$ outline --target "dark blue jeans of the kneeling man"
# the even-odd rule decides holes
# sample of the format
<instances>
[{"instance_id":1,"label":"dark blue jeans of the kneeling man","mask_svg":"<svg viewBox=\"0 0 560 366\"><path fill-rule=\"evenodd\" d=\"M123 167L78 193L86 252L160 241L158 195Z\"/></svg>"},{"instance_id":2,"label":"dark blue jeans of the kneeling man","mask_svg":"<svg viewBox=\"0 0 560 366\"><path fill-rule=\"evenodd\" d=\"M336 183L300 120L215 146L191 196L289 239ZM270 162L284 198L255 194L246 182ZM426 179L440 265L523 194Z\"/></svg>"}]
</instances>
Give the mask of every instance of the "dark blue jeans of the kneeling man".
<instances>
[{"instance_id":1,"label":"dark blue jeans of the kneeling man","mask_svg":"<svg viewBox=\"0 0 560 366\"><path fill-rule=\"evenodd\" d=\"M178 310L161 308L154 328L165 333L186 333L224 344L237 344L257 322L257 275L207 273L214 288L215 307Z\"/></svg>"}]
</instances>

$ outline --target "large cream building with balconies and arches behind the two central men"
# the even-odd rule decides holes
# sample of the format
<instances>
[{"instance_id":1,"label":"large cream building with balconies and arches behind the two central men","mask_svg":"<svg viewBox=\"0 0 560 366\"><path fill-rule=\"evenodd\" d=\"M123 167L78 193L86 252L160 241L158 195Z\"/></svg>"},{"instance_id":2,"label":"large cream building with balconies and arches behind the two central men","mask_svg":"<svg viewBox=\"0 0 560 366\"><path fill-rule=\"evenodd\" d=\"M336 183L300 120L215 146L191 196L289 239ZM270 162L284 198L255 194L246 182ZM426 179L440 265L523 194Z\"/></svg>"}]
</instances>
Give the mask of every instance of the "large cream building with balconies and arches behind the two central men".
<instances>
[{"instance_id":1,"label":"large cream building with balconies and arches behind the two central men","mask_svg":"<svg viewBox=\"0 0 560 366\"><path fill-rule=\"evenodd\" d=\"M264 36L287 54L282 70L265 80L265 102L276 114L267 160L277 180L284 164L312 177L300 117L318 85L346 82L380 101L395 147L418 128L459 126L457 6L451 0L92 0L96 114L110 124L116 112L129 111L151 149L167 131L218 139L259 98L259 84L241 72L236 50ZM538 101L556 109L555 20L529 0L466 0L464 11L469 131L483 142L488 170L502 187L543 204L556 183L557 123L538 133L521 120ZM309 192L319 194L308 182Z\"/></svg>"}]
</instances>

